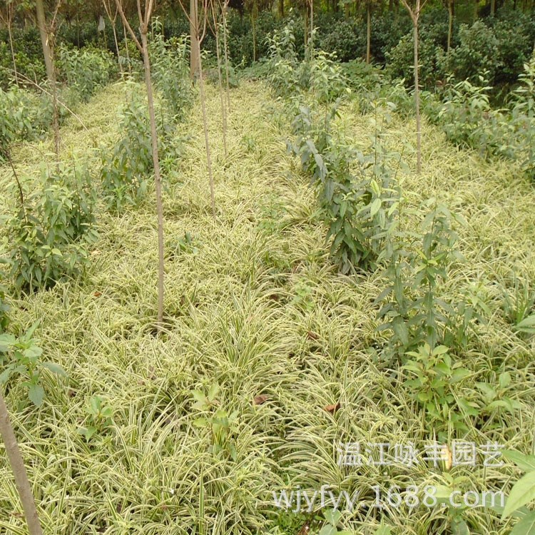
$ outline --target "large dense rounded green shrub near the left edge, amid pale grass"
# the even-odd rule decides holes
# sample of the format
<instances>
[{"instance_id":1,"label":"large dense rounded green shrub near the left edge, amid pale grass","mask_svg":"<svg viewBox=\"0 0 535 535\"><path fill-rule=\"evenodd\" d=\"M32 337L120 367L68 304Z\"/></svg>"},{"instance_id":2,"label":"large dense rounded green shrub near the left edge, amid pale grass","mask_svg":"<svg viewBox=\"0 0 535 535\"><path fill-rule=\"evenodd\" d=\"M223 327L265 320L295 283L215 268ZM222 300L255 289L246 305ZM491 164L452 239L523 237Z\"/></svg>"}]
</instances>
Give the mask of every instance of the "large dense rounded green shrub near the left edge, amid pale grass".
<instances>
[{"instance_id":1,"label":"large dense rounded green shrub near the left edge, amid pale grass","mask_svg":"<svg viewBox=\"0 0 535 535\"><path fill-rule=\"evenodd\" d=\"M42 170L39 187L7 223L16 287L34 291L78 274L96 239L96 192L86 168Z\"/></svg>"}]
</instances>

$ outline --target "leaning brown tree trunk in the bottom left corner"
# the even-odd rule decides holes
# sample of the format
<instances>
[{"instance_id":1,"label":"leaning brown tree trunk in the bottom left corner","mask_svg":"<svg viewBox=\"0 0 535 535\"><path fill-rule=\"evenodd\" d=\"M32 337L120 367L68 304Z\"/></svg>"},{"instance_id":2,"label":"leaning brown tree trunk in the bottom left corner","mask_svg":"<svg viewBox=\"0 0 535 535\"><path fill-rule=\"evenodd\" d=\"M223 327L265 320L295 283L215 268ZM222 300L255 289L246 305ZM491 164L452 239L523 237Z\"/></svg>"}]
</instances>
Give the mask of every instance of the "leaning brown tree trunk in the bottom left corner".
<instances>
[{"instance_id":1,"label":"leaning brown tree trunk in the bottom left corner","mask_svg":"<svg viewBox=\"0 0 535 535\"><path fill-rule=\"evenodd\" d=\"M28 523L28 531L30 535L43 535L39 516L34 501L34 495L31 492L31 484L24 467L19 444L16 442L15 433L11 421L9 419L9 412L7 412L6 402L4 396L0 392L0 436L4 441L6 447L6 454L13 470L15 477L16 489L19 492L22 509L24 509L24 516Z\"/></svg>"}]
</instances>

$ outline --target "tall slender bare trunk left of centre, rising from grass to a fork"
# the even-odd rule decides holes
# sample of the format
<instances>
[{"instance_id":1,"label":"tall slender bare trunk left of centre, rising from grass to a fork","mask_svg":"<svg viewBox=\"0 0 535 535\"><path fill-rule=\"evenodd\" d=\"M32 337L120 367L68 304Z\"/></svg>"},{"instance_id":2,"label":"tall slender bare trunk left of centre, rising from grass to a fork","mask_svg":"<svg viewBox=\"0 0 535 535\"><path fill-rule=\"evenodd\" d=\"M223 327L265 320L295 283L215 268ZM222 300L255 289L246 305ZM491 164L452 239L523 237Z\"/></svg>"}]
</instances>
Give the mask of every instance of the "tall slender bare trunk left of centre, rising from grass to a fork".
<instances>
[{"instance_id":1,"label":"tall slender bare trunk left of centre, rising from grass to a fork","mask_svg":"<svg viewBox=\"0 0 535 535\"><path fill-rule=\"evenodd\" d=\"M146 29L145 29L146 30ZM163 205L162 183L160 175L160 158L158 157L158 133L154 113L153 86L151 81L151 61L148 57L146 31L141 32L143 48L143 65L145 66L145 85L147 87L148 116L151 120L151 138L153 149L154 184L156 185L156 211L158 213L158 331L163 327Z\"/></svg>"}]
</instances>

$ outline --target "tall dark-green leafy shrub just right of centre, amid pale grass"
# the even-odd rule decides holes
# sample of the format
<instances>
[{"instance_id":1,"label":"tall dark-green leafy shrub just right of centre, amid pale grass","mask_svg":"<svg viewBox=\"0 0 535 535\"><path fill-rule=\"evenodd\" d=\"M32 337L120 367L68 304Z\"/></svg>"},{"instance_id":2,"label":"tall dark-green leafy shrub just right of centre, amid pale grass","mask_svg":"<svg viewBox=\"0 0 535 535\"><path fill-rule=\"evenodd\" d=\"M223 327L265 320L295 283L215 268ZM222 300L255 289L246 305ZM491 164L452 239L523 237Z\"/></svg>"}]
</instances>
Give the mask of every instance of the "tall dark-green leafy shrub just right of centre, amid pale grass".
<instances>
[{"instance_id":1,"label":"tall dark-green leafy shrub just right of centre, amid pale grass","mask_svg":"<svg viewBox=\"0 0 535 535\"><path fill-rule=\"evenodd\" d=\"M385 153L377 131L372 152L366 156L342 138L334 139L336 116L337 104L324 119L302 106L293 122L297 141L289 146L317 188L330 254L340 272L370 270L393 229L398 192L387 165L392 155ZM355 164L357 175L352 172Z\"/></svg>"}]
</instances>

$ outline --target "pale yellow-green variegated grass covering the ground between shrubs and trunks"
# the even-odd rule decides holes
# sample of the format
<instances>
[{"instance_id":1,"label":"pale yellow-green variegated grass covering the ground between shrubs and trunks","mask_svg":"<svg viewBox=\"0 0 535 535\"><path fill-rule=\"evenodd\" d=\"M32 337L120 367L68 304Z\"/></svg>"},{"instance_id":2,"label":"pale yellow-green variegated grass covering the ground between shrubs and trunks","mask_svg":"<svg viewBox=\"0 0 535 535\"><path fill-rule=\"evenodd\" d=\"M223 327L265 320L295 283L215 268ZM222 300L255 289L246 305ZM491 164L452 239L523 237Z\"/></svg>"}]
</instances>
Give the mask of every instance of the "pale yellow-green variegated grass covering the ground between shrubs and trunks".
<instances>
[{"instance_id":1,"label":"pale yellow-green variegated grass covering the ground between shrubs and trunks","mask_svg":"<svg viewBox=\"0 0 535 535\"><path fill-rule=\"evenodd\" d=\"M106 146L118 138L116 110L122 84L81 106L90 129L63 127L62 157L98 163L91 137ZM220 107L208 88L210 140L217 218L213 220L199 106L180 126L189 135L183 158L165 176L166 328L153 335L156 309L156 218L152 195L113 217L101 210L100 239L91 265L78 280L11 300L12 324L37 334L48 360L68 379L47 377L43 407L19 407L15 384L7 394L22 453L48 534L144 535L290 534L306 516L281 521L272 491L361 489L385 492L394 484L452 484L463 489L508 489L511 465L481 467L343 467L337 442L429 442L424 414L402 388L392 362L381 358L376 331L382 272L338 275L325 245L315 195L286 153L290 133L275 121L267 89L243 82L233 91L228 158L220 136ZM368 145L369 118L342 107L340 123L355 143ZM414 125L394 121L388 136L400 148ZM445 295L478 283L492 311L478 325L462 358L472 384L513 378L507 396L519 408L496 410L484 423L449 439L533 447L534 340L514 331L514 311L535 277L533 190L511 163L489 165L475 153L449 146L436 128L424 127L423 172L403 176L407 202L437 197L468 221L460 229L465 263L452 270ZM21 175L35 176L51 143L14 151ZM413 153L404 151L407 163ZM44 155L44 156L42 156ZM97 175L98 173L96 173ZM3 193L11 181L0 169ZM0 215L16 198L4 194ZM409 221L408 225L411 224ZM1 253L9 248L2 233ZM518 288L515 290L515 287ZM506 305L509 299L509 305ZM509 306L509 308L508 308ZM509 310L509 312L507 312ZM220 389L208 410L195 407L193 391ZM255 397L265 394L263 402ZM78 433L91 418L91 399L111 407L111 424L93 437ZM484 393L467 391L475 404ZM328 405L340 408L328 412ZM201 417L233 415L228 427L199 425ZM334 413L334 414L333 414ZM224 422L223 422L224 423ZM219 425L219 424L218 424ZM215 444L232 448L215 449ZM1 446L0 446L1 448ZM25 534L5 456L0 457L0 532ZM472 533L501 534L489 509L467 509ZM451 533L449 511L365 508L342 516L355 534L381 523L395 534Z\"/></svg>"}]
</instances>

